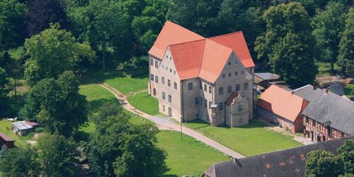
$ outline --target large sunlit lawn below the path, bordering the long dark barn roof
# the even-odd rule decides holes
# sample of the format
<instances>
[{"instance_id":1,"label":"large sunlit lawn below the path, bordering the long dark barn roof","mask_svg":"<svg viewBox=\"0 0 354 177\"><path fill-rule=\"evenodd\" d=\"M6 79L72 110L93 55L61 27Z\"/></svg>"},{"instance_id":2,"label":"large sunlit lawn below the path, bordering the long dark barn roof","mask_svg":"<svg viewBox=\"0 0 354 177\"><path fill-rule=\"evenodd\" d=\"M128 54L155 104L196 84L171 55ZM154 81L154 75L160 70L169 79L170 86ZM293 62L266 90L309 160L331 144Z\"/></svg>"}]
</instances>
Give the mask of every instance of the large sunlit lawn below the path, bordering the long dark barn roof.
<instances>
[{"instance_id":1,"label":"large sunlit lawn below the path, bordering the long dark barn roof","mask_svg":"<svg viewBox=\"0 0 354 177\"><path fill-rule=\"evenodd\" d=\"M181 141L179 132L161 131L156 137L159 147L168 154L164 176L201 176L213 163L229 160L228 156L191 137L183 136Z\"/></svg>"}]
</instances>

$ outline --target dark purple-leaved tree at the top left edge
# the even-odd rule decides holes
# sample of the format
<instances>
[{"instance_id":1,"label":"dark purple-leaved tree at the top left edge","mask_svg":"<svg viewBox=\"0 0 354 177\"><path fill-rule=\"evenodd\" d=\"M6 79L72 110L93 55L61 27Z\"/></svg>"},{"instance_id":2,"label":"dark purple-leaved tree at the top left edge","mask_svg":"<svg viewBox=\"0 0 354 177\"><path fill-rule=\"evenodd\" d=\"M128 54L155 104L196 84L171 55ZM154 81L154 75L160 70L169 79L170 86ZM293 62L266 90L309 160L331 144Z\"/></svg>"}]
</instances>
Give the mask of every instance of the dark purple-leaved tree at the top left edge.
<instances>
[{"instance_id":1,"label":"dark purple-leaved tree at the top left edge","mask_svg":"<svg viewBox=\"0 0 354 177\"><path fill-rule=\"evenodd\" d=\"M28 13L25 17L28 37L40 33L50 27L50 23L59 23L64 29L69 29L67 15L59 0L29 0Z\"/></svg>"}]
</instances>

